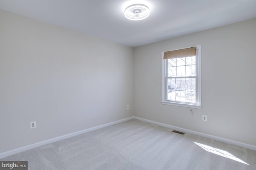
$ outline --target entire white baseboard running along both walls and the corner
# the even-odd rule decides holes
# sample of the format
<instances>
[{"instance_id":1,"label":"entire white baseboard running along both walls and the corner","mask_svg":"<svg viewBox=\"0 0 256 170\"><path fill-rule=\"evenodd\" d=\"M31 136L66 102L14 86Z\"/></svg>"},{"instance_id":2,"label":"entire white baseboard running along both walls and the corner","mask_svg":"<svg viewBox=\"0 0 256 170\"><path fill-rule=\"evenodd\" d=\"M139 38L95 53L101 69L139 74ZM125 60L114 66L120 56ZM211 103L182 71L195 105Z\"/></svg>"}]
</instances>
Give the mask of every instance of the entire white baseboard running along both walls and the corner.
<instances>
[{"instance_id":1,"label":"entire white baseboard running along both walls and the corner","mask_svg":"<svg viewBox=\"0 0 256 170\"><path fill-rule=\"evenodd\" d=\"M208 135L208 134L205 134L205 133L191 131L191 130L188 130L188 129L183 129L183 128L180 128L180 127L176 127L176 126L172 126L172 125L167 125L167 124L164 124L164 123L159 123L159 122L156 122L156 121L151 121L151 120L148 120L148 119L142 119L140 117L132 116L132 117L128 117L126 119L121 119L121 120L118 120L118 121L113 121L113 122L110 122L110 123L106 123L104 125L99 125L99 126L96 126L96 127L92 127L92 128L89 128L89 129L82 130L82 131L77 131L77 132L70 133L70 134L67 134L67 135L63 135L63 136L60 136L60 137L55 137L55 138L52 138L52 139L48 139L46 141L34 143L32 145L27 145L27 146L20 147L20 148L14 149L14 150L3 152L3 153L0 153L0 159L4 158L6 156L10 156L12 154L16 154L16 153L23 152L23 151L26 151L26 150L34 149L36 147L41 147L41 146L47 145L49 143L53 143L53 142L56 142L56 141L60 141L62 139L66 139L66 138L69 138L69 137L80 135L82 133L94 131L96 129L100 129L100 128L107 127L107 126L110 126L110 125L115 125L117 123L121 123L121 122L128 121L128 120L131 120L131 119L137 119L137 120L140 120L140 121L145 121L145 122L152 123L152 124L155 124L155 125L159 125L159 126L162 126L162 127L167 127L169 129L174 129L174 130L190 133L192 135L206 137L206 138L209 138L209 139L214 139L216 141L230 143L232 145L236 145L236 146L239 146L239 147L244 147L244 148L247 148L247 149L256 150L256 146L254 146L254 145L249 145L249 144L246 144L246 143L232 141L230 139L216 137L216 136L213 136L213 135Z\"/></svg>"}]
</instances>

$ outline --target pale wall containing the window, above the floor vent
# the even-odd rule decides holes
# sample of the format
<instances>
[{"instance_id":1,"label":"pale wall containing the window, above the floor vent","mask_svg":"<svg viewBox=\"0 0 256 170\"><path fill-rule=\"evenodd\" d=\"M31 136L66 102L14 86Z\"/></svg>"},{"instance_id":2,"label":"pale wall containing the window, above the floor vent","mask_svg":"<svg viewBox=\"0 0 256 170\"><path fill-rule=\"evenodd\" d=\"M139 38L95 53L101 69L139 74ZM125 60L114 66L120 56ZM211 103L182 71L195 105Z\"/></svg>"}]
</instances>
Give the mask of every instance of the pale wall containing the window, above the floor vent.
<instances>
[{"instance_id":1,"label":"pale wall containing the window, above the floor vent","mask_svg":"<svg viewBox=\"0 0 256 170\"><path fill-rule=\"evenodd\" d=\"M135 116L256 145L255 30L256 18L135 48ZM190 113L160 103L161 52L194 45L202 45L202 109Z\"/></svg>"}]
</instances>

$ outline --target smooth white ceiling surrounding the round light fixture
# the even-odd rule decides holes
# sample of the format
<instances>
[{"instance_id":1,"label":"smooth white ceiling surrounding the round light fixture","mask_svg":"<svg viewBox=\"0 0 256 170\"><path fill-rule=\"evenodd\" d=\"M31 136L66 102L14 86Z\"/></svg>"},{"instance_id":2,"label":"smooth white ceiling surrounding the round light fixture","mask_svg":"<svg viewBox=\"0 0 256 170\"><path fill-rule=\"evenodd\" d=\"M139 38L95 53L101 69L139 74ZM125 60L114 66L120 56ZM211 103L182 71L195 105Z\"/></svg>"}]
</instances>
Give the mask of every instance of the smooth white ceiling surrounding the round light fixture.
<instances>
[{"instance_id":1,"label":"smooth white ceiling surrounding the round light fixture","mask_svg":"<svg viewBox=\"0 0 256 170\"><path fill-rule=\"evenodd\" d=\"M133 3L150 16L126 19ZM0 0L0 9L130 47L256 18L256 0Z\"/></svg>"}]
</instances>

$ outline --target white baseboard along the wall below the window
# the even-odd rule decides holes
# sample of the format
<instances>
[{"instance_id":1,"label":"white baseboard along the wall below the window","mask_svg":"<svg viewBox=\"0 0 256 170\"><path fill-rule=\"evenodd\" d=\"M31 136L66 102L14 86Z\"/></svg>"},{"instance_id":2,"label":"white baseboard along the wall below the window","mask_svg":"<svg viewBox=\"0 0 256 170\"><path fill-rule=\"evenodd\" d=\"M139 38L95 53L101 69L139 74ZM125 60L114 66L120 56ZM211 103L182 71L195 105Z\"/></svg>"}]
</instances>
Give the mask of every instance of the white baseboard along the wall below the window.
<instances>
[{"instance_id":1,"label":"white baseboard along the wall below the window","mask_svg":"<svg viewBox=\"0 0 256 170\"><path fill-rule=\"evenodd\" d=\"M220 142L224 142L224 143L229 143L229 144L232 144L232 145L236 145L238 147L244 147L244 148L247 148L247 149L256 150L256 146L255 145L249 145L249 144L246 144L246 143L242 143L242 142L238 142L238 141L233 141L233 140L225 139L225 138L222 138L222 137L217 137L217 136L208 135L208 134L205 134L205 133L191 131L191 130L188 130L188 129L183 129L183 128L180 128L180 127L176 127L176 126L172 126L172 125L167 125L167 124L159 123L159 122L156 122L156 121L151 121L151 120L148 120L148 119L142 119L140 117L133 116L133 118L137 119L137 120L140 120L140 121L145 121L145 122L148 122L148 123L152 123L152 124L155 124L155 125L167 127L169 129L174 129L174 130L177 130L177 131L182 131L182 132L190 133L192 135L197 135L197 136L200 136L200 137L205 137L205 138L214 139L216 141L220 141Z\"/></svg>"}]
</instances>

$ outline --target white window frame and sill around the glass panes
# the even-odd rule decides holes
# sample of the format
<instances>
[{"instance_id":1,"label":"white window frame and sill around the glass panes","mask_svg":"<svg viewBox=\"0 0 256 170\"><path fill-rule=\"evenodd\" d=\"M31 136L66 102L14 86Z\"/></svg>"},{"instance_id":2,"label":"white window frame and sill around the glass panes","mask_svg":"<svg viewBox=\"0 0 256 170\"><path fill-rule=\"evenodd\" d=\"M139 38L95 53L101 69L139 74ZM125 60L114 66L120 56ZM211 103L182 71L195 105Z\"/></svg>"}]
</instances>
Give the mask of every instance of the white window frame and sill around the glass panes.
<instances>
[{"instance_id":1,"label":"white window frame and sill around the glass panes","mask_svg":"<svg viewBox=\"0 0 256 170\"><path fill-rule=\"evenodd\" d=\"M172 105L172 106L182 106L182 107L190 107L190 108L196 108L196 109L201 109L201 45L196 45L193 46L196 47L196 67L197 67L197 72L198 72L198 81L196 84L196 104L190 104L188 102L179 102L179 101L170 101L167 100L167 72L166 72L166 60L164 60L164 52L162 51L162 101L161 104L167 104L167 105ZM190 47L187 47L190 48ZM182 48L186 49L186 48ZM179 50L179 49L174 49L174 50ZM174 50L168 50L168 51L174 51Z\"/></svg>"}]
</instances>

